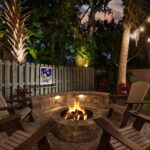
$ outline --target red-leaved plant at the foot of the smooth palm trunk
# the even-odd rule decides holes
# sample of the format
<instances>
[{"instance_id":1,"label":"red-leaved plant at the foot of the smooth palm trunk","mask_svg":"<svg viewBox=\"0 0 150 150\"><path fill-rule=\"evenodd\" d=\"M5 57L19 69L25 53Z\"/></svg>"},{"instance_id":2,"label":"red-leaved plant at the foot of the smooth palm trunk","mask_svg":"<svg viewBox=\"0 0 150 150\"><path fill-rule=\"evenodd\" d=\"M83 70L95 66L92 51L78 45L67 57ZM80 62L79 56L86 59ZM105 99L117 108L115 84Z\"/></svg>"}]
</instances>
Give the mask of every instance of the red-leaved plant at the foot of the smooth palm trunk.
<instances>
[{"instance_id":1,"label":"red-leaved plant at the foot of the smooth palm trunk","mask_svg":"<svg viewBox=\"0 0 150 150\"><path fill-rule=\"evenodd\" d=\"M119 85L119 92L128 95L130 91L130 87L131 87L131 84L129 83L121 83Z\"/></svg>"}]
</instances>

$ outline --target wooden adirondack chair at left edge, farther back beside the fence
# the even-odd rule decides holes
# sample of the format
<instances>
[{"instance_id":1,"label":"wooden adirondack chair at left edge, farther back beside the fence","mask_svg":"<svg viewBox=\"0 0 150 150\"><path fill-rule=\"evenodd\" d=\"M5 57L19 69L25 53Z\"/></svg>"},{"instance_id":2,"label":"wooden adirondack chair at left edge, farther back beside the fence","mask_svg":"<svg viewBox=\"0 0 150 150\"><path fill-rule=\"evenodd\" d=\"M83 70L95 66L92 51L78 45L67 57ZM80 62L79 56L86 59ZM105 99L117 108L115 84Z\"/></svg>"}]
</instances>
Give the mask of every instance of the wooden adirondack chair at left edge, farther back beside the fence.
<instances>
[{"instance_id":1,"label":"wooden adirondack chair at left edge, farther back beside the fence","mask_svg":"<svg viewBox=\"0 0 150 150\"><path fill-rule=\"evenodd\" d=\"M0 93L0 118L3 118L5 115L14 114L16 112L15 110L19 107L19 104L8 106L2 93ZM22 108L21 110L18 110L18 112L21 114L21 120L24 120L29 115L30 120L33 121L32 110L30 107Z\"/></svg>"}]
</instances>

